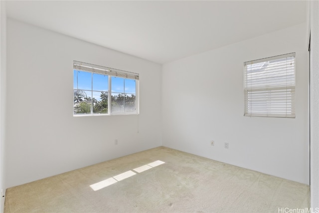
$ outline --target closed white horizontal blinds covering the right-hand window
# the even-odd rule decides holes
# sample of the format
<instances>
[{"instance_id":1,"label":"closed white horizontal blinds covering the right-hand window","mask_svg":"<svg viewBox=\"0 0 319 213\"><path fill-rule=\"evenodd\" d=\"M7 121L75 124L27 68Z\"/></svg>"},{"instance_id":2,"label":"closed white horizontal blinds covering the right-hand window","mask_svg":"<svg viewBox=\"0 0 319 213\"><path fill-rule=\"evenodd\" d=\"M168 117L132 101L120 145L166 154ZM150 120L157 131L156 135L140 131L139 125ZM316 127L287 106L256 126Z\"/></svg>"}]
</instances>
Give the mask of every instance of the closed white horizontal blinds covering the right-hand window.
<instances>
[{"instance_id":1,"label":"closed white horizontal blinds covering the right-hand window","mask_svg":"<svg viewBox=\"0 0 319 213\"><path fill-rule=\"evenodd\" d=\"M295 118L295 54L245 62L245 116Z\"/></svg>"}]
</instances>

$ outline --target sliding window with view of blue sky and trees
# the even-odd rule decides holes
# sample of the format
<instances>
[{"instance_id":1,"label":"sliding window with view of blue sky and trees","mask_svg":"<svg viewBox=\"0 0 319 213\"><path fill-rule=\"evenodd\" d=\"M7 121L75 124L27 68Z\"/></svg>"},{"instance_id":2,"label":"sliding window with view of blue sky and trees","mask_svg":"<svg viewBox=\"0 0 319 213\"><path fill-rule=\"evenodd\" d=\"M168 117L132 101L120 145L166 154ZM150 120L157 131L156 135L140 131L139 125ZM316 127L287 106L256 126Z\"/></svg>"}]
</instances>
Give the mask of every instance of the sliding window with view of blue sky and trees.
<instances>
[{"instance_id":1,"label":"sliding window with view of blue sky and trees","mask_svg":"<svg viewBox=\"0 0 319 213\"><path fill-rule=\"evenodd\" d=\"M73 115L138 114L139 74L73 61Z\"/></svg>"}]
</instances>

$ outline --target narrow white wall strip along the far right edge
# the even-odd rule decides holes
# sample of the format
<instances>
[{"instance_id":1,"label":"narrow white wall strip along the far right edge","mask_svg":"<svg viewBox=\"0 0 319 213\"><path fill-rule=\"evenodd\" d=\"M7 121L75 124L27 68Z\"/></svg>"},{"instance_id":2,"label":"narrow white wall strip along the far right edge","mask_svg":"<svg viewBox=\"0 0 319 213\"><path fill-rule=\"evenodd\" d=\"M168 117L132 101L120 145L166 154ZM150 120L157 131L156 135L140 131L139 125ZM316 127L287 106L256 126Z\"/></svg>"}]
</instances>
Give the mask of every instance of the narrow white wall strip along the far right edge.
<instances>
[{"instance_id":1,"label":"narrow white wall strip along the far right edge","mask_svg":"<svg viewBox=\"0 0 319 213\"><path fill-rule=\"evenodd\" d=\"M311 207L319 208L319 2L310 2Z\"/></svg>"}]
</instances>

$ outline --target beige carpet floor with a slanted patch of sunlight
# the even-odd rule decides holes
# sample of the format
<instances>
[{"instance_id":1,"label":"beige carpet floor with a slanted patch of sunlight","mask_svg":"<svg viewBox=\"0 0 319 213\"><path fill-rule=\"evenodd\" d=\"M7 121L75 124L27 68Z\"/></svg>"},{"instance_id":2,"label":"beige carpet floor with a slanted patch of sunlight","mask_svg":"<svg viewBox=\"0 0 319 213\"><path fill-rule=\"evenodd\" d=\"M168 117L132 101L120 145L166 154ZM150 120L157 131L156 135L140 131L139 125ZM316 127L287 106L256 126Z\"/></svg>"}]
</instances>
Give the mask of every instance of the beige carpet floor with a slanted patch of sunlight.
<instances>
[{"instance_id":1,"label":"beige carpet floor with a slanted patch of sunlight","mask_svg":"<svg viewBox=\"0 0 319 213\"><path fill-rule=\"evenodd\" d=\"M4 212L278 213L309 207L307 185L158 147L9 188Z\"/></svg>"}]
</instances>

